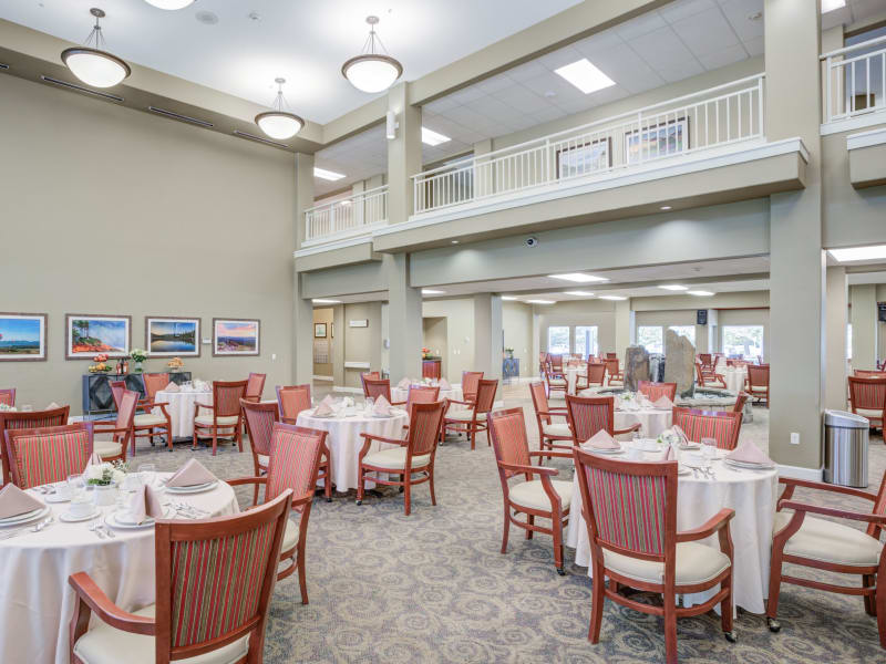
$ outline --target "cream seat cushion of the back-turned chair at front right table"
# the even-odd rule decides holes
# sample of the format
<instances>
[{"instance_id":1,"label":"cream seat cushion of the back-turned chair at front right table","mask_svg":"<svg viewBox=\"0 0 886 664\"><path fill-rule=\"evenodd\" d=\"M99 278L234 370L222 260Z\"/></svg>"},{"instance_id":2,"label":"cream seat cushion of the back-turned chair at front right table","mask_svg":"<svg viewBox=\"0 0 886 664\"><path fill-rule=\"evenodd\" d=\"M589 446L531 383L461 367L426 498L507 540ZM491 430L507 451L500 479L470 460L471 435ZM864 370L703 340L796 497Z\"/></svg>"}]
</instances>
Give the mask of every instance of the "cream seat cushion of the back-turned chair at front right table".
<instances>
[{"instance_id":1,"label":"cream seat cushion of the back-turned chair at front right table","mask_svg":"<svg viewBox=\"0 0 886 664\"><path fill-rule=\"evenodd\" d=\"M640 560L606 549L604 549L602 556L604 564L614 572L649 583L664 581L663 562ZM679 542L674 568L678 585L704 583L729 568L729 556L719 549L698 542Z\"/></svg>"}]
</instances>

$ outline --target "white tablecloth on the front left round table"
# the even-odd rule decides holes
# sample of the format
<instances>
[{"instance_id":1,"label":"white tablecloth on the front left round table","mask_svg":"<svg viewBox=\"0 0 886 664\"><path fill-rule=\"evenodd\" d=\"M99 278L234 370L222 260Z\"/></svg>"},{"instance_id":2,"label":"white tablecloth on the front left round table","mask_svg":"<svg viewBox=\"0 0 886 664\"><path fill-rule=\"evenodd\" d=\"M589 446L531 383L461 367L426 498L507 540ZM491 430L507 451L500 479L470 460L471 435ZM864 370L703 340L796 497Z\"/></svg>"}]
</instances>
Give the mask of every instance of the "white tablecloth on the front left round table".
<instances>
[{"instance_id":1,"label":"white tablecloth on the front left round table","mask_svg":"<svg viewBox=\"0 0 886 664\"><path fill-rule=\"evenodd\" d=\"M239 512L234 489L225 483L205 494L175 498L213 516ZM71 574L87 572L125 611L154 603L154 529L116 529L115 538L99 539L87 529L90 521L58 520L69 505L50 505L56 520L45 530L0 541L0 662L4 664L68 664L68 627L74 612ZM109 513L115 508L101 509ZM125 660L121 653L121 662Z\"/></svg>"}]
</instances>

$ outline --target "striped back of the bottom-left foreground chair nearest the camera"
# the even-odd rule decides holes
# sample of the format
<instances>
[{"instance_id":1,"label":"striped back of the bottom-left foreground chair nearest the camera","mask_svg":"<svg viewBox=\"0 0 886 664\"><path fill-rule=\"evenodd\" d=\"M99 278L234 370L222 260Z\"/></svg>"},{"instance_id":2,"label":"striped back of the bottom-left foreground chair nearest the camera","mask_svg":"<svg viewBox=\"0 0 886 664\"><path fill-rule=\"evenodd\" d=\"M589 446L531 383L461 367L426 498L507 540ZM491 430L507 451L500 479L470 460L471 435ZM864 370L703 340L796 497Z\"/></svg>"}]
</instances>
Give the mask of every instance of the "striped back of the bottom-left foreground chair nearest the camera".
<instances>
[{"instance_id":1,"label":"striped back of the bottom-left foreground chair nearest the camera","mask_svg":"<svg viewBox=\"0 0 886 664\"><path fill-rule=\"evenodd\" d=\"M192 657L246 635L249 660L260 661L290 501L286 491L243 513L198 525L157 520L158 662Z\"/></svg>"}]
</instances>

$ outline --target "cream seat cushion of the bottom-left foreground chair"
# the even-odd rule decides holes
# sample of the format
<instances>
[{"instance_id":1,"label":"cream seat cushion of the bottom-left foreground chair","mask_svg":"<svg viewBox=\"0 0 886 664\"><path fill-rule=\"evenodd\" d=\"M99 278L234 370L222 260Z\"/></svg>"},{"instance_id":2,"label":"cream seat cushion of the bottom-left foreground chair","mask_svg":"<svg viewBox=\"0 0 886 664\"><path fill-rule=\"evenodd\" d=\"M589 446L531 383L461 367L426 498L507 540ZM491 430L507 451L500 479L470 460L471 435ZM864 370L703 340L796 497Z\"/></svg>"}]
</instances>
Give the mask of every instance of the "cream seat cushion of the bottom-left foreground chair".
<instances>
[{"instance_id":1,"label":"cream seat cushion of the bottom-left foreground chair","mask_svg":"<svg viewBox=\"0 0 886 664\"><path fill-rule=\"evenodd\" d=\"M154 605L134 611L135 615L154 615ZM246 656L249 636L210 653L176 660L176 664L233 664ZM74 654L85 664L154 664L154 637L132 634L100 622L74 644Z\"/></svg>"}]
</instances>

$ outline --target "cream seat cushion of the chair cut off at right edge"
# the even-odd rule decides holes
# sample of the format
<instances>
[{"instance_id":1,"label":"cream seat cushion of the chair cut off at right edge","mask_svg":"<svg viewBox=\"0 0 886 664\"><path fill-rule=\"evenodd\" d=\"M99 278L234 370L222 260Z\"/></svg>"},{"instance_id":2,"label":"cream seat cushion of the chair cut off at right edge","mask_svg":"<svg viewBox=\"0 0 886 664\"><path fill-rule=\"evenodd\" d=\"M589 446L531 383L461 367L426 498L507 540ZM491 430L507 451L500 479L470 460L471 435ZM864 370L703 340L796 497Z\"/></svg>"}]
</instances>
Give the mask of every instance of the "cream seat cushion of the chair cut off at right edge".
<instances>
[{"instance_id":1,"label":"cream seat cushion of the chair cut off at right edge","mask_svg":"<svg viewBox=\"0 0 886 664\"><path fill-rule=\"evenodd\" d=\"M777 533L793 516L793 512L776 512L773 531ZM784 544L787 556L858 567L878 564L882 551L883 544L866 532L808 515Z\"/></svg>"}]
</instances>

